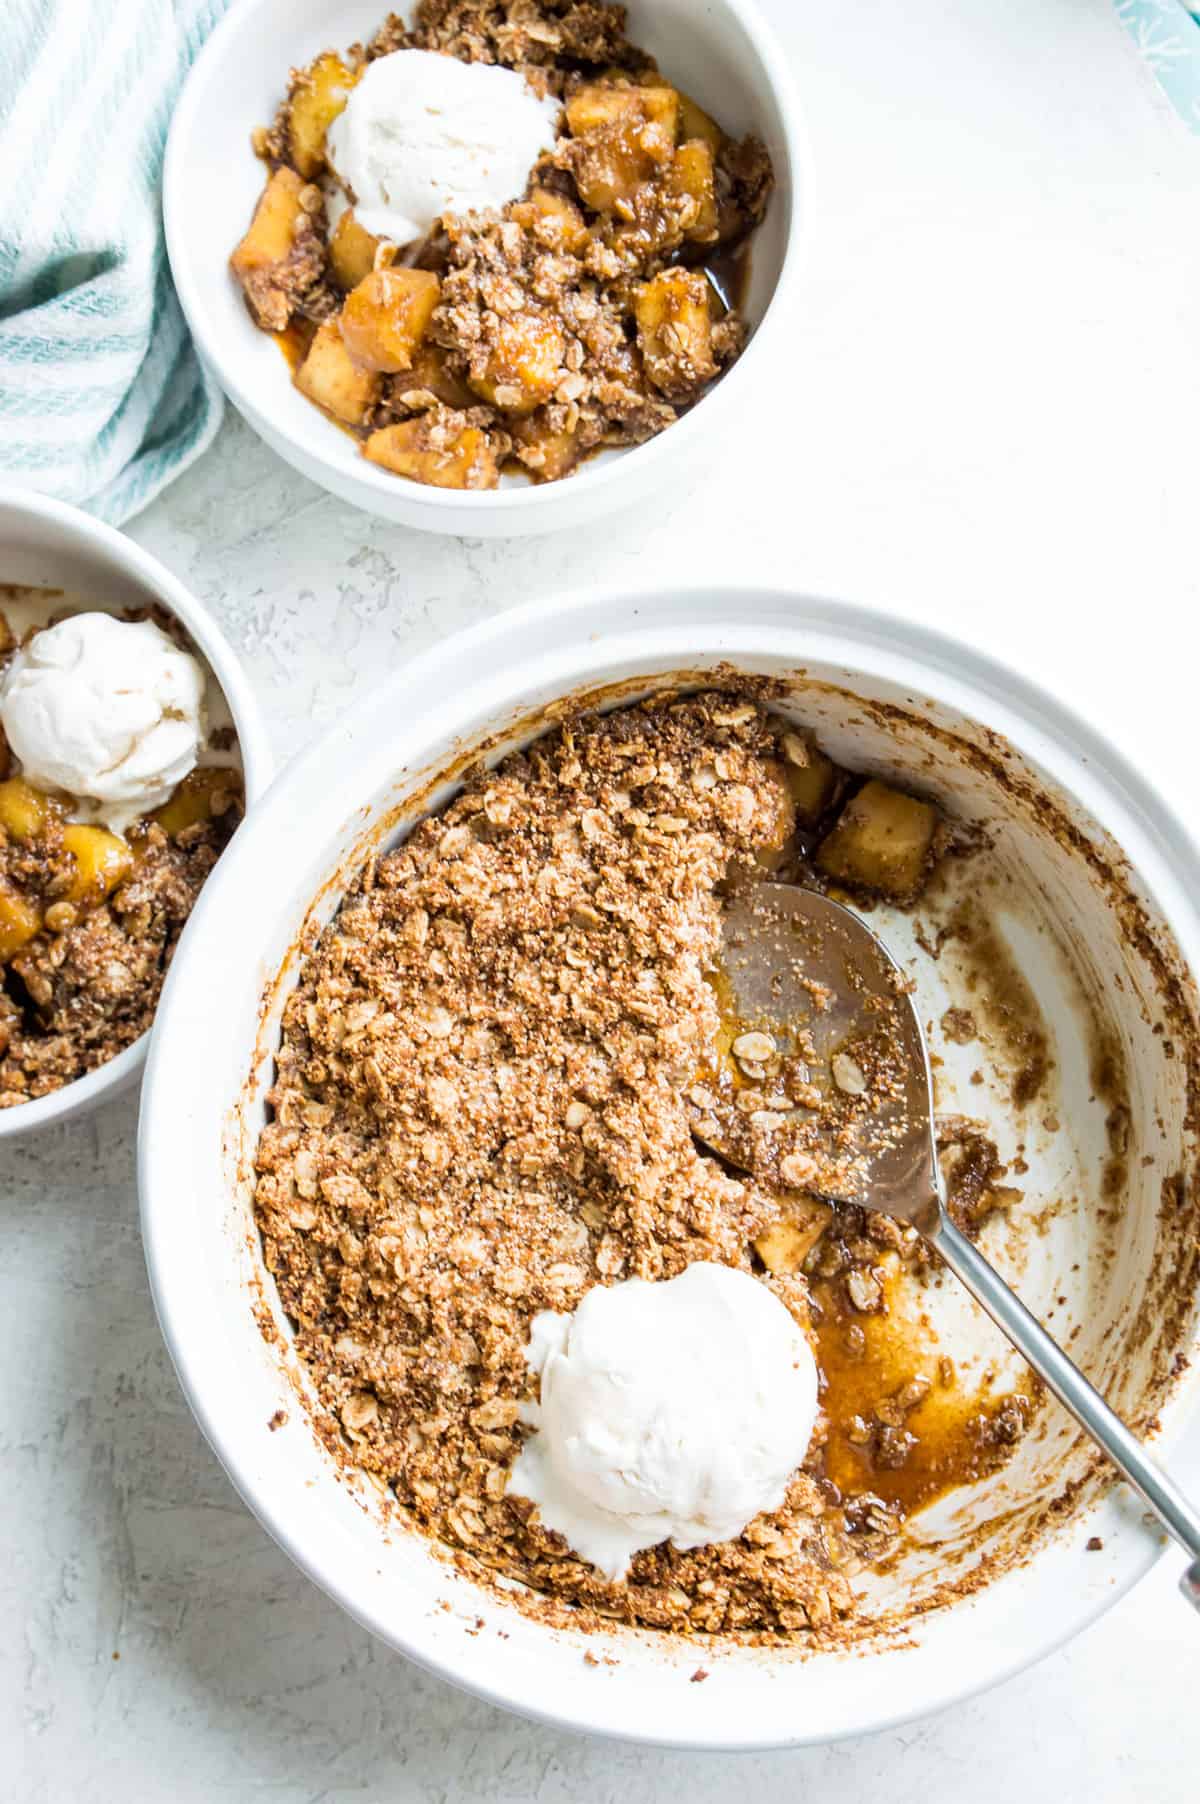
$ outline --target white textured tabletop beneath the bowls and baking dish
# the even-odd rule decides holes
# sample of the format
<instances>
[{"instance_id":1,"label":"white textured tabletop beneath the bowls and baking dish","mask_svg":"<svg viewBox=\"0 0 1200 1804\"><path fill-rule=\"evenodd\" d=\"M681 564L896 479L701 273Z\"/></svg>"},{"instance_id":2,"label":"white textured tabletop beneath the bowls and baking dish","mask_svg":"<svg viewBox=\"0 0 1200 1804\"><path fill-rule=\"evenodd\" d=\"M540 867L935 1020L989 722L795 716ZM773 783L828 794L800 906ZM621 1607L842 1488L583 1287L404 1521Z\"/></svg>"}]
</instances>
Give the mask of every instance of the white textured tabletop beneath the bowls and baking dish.
<instances>
[{"instance_id":1,"label":"white textured tabletop beneath the bowls and baking dish","mask_svg":"<svg viewBox=\"0 0 1200 1804\"><path fill-rule=\"evenodd\" d=\"M280 758L529 595L752 575L998 651L1200 826L1200 139L1110 0L767 4L821 202L778 379L789 440L715 455L668 512L482 543L352 512L229 419L134 536L220 617ZM1175 1557L1000 1690L792 1755L585 1743L417 1672L294 1571L200 1440L146 1290L134 1118L114 1104L0 1155L5 1799L1196 1797L1200 1624Z\"/></svg>"}]
</instances>

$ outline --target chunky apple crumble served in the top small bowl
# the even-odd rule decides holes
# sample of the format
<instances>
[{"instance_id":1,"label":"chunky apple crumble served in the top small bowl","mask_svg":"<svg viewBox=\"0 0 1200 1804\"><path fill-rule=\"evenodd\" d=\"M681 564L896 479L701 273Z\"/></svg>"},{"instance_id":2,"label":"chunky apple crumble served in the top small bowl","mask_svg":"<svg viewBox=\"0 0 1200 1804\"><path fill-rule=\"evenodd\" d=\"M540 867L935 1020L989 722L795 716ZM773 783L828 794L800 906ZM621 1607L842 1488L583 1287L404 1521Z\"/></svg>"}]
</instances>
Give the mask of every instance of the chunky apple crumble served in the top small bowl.
<instances>
[{"instance_id":1,"label":"chunky apple crumble served in the top small bowl","mask_svg":"<svg viewBox=\"0 0 1200 1804\"><path fill-rule=\"evenodd\" d=\"M444 209L392 242L355 216L366 195L346 191L330 133L379 65L410 52L523 78L547 106L547 148L503 204ZM590 451L671 426L745 343L769 155L628 41L621 5L422 0L411 25L392 14L366 47L294 70L256 150L269 177L231 260L249 310L283 336L300 391L399 476L570 476ZM392 155L402 175L426 152ZM392 229L404 240L415 222Z\"/></svg>"}]
</instances>

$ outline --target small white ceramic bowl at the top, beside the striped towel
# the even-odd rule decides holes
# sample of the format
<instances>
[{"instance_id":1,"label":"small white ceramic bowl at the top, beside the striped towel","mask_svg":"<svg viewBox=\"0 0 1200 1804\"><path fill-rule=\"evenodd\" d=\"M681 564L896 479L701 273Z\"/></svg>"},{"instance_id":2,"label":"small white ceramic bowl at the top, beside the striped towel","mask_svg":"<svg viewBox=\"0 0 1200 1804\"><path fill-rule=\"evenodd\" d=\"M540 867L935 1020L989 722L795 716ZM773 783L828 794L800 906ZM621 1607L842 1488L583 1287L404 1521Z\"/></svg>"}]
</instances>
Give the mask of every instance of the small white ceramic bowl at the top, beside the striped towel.
<instances>
[{"instance_id":1,"label":"small white ceramic bowl at the top, beside the striped towel","mask_svg":"<svg viewBox=\"0 0 1200 1804\"><path fill-rule=\"evenodd\" d=\"M722 124L758 132L771 150L776 191L754 238L745 308L756 328L751 345L691 413L650 444L590 458L567 482L536 487L505 478L500 489L478 494L428 489L368 464L357 442L292 388L287 363L253 325L229 272L229 253L263 180L251 132L274 117L289 67L330 45L370 38L386 13L386 0L240 0L197 58L171 121L162 211L171 274L200 355L282 458L343 502L406 527L476 538L549 532L684 482L731 442L747 395L771 382L772 359L785 354L801 236L812 213L787 60L752 0L630 5L633 41Z\"/></svg>"}]
</instances>

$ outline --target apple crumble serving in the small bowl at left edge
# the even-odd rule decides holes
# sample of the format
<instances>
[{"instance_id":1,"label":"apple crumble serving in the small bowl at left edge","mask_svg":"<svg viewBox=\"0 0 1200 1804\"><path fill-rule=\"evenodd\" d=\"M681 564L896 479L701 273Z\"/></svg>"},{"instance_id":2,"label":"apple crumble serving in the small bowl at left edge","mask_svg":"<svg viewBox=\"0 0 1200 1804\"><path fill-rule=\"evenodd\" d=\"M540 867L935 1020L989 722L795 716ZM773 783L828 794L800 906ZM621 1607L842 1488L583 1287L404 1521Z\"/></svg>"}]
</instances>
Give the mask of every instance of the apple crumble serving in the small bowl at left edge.
<instances>
[{"instance_id":1,"label":"apple crumble serving in the small bowl at left edge","mask_svg":"<svg viewBox=\"0 0 1200 1804\"><path fill-rule=\"evenodd\" d=\"M13 584L0 588L0 714L9 723L9 734L0 731L0 1108L14 1108L106 1064L146 1032L175 942L240 819L242 776L233 767L233 727L208 713L200 714L204 763L168 781L166 799L155 790L157 805L144 814L126 805L114 819L105 805L25 769L9 738L13 678L31 648L61 622L152 617L81 615L83 604L61 592ZM159 617L152 628L204 676L179 646L173 621ZM34 675L47 669L58 680L65 662ZM99 687L110 716L123 714L128 696L126 687L105 704ZM61 729L67 758L87 745L92 725L76 702L78 691L47 695L45 686L34 698L32 738L47 738L49 720ZM168 725L177 736L179 722Z\"/></svg>"}]
</instances>

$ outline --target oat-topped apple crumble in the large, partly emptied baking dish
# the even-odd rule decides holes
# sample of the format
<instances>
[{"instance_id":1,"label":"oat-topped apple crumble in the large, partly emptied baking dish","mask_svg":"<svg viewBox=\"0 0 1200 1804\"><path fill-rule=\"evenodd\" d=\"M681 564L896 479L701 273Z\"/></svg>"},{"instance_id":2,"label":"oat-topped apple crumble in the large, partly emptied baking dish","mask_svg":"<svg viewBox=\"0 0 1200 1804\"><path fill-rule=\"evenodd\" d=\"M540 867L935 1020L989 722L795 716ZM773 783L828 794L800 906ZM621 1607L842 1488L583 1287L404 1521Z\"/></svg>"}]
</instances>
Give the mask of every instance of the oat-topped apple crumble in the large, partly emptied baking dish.
<instances>
[{"instance_id":1,"label":"oat-topped apple crumble in the large, partly emptied baking dish","mask_svg":"<svg viewBox=\"0 0 1200 1804\"><path fill-rule=\"evenodd\" d=\"M256 1153L265 1263L330 1445L476 1569L684 1633L821 1633L908 1508L1007 1456L1030 1398L976 1398L947 1438L947 1360L879 1385L872 1337L928 1254L807 1192L803 1079L729 1028L713 981L731 884L911 898L947 833L756 700L662 696L475 770L309 943ZM747 1122L785 1135L769 1178L698 1133L718 1068ZM971 1171L974 1201L1003 1174ZM610 1580L509 1486L531 1324L700 1261L783 1302L825 1414L778 1510Z\"/></svg>"}]
</instances>

